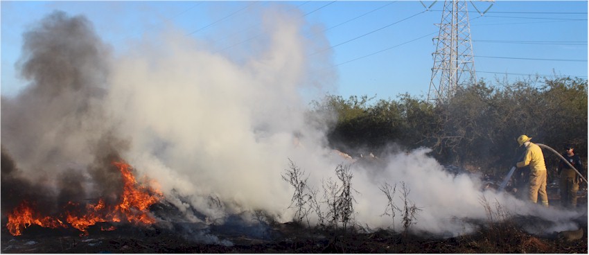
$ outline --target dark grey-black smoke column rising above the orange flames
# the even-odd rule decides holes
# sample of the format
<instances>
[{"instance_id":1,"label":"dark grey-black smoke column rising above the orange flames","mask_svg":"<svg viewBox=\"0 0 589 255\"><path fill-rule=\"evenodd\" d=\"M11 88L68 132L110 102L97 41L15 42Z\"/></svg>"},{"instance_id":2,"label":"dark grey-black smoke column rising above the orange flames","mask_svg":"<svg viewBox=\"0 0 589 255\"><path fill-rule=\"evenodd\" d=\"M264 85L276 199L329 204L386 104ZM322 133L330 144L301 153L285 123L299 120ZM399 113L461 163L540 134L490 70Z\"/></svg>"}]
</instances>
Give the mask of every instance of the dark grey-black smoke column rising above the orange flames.
<instances>
[{"instance_id":1,"label":"dark grey-black smoke column rising above the orange flames","mask_svg":"<svg viewBox=\"0 0 589 255\"><path fill-rule=\"evenodd\" d=\"M2 209L22 200L46 213L68 201L116 200L125 141L103 109L111 49L83 16L55 11L22 35L26 88L1 99Z\"/></svg>"}]
</instances>

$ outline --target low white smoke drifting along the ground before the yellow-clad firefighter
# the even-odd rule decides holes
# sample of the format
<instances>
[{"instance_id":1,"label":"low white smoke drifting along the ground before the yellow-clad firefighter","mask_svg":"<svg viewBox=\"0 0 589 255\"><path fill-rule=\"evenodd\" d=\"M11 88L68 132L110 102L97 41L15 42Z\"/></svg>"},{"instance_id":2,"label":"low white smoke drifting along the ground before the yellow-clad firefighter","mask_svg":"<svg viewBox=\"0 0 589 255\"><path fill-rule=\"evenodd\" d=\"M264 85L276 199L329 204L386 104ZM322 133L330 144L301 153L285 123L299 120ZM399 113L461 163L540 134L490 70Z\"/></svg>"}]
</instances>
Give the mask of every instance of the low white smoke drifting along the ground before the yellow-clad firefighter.
<instances>
[{"instance_id":1,"label":"low white smoke drifting along the ground before the yellow-clad firefighter","mask_svg":"<svg viewBox=\"0 0 589 255\"><path fill-rule=\"evenodd\" d=\"M415 229L445 236L468 234L477 228L469 220L489 221L485 205L491 206L491 213L508 213L510 216L533 216L553 224L531 224L529 231L535 234L549 234L553 231L578 229L575 219L586 217L583 211L563 211L558 207L543 208L525 200L519 200L509 193L496 193L484 190L483 183L476 175L453 175L443 170L436 160L428 157L428 148L420 148L407 153L389 155L385 170L364 169L358 172L355 180L358 190L364 191L357 211L360 218L367 219L373 226L390 226L390 217L370 217L374 212L383 213L383 204L387 204L382 191L375 188L377 184L405 182L410 190L409 200L421 209L416 217ZM484 202L483 200L486 200ZM403 207L401 186L396 187L396 206ZM498 208L499 206L499 208ZM364 214L366 213L366 214ZM395 225L401 227L401 213L397 212ZM495 222L500 218L493 216ZM536 225L538 224L538 225Z\"/></svg>"}]
</instances>

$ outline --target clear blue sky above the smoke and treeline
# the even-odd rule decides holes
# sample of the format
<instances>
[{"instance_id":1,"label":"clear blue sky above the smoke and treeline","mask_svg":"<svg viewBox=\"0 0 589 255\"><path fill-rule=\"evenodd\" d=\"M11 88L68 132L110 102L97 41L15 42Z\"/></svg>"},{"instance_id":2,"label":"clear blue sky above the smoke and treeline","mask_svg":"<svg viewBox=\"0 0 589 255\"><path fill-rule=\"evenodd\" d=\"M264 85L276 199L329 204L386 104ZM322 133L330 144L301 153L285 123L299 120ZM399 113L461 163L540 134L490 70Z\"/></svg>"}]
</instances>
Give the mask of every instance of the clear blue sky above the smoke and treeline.
<instances>
[{"instance_id":1,"label":"clear blue sky above the smoke and treeline","mask_svg":"<svg viewBox=\"0 0 589 255\"><path fill-rule=\"evenodd\" d=\"M17 78L22 33L53 10L85 15L96 33L122 53L170 22L216 44L239 49L259 33L252 7L262 1L1 1L1 94L26 86ZM324 30L339 78L329 93L347 98L398 94L427 97L443 1L281 1L298 10L308 29ZM433 6L426 10L425 6ZM529 76L587 78L587 1L468 1L477 78L497 84ZM491 6L492 3L492 6ZM473 6L474 4L474 6ZM491 8L489 8L491 6ZM489 8L484 14L480 12ZM247 11L249 10L249 12ZM314 36L308 33L308 39Z\"/></svg>"}]
</instances>

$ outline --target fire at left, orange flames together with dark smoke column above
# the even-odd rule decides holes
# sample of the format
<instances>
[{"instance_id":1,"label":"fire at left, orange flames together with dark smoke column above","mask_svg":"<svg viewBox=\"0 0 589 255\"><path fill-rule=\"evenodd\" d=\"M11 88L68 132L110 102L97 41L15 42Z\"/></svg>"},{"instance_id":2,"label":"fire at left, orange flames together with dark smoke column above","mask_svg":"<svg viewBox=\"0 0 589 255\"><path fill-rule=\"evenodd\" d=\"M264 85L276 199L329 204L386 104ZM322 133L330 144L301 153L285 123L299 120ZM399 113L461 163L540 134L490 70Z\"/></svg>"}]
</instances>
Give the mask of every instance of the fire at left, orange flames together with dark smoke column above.
<instances>
[{"instance_id":1,"label":"fire at left, orange flames together with dark smoke column above","mask_svg":"<svg viewBox=\"0 0 589 255\"><path fill-rule=\"evenodd\" d=\"M89 21L54 12L24 34L23 50L30 84L1 100L3 226L13 236L33 225L87 235L98 222L156 222L149 208L163 194L137 182L119 156L126 142L105 121L109 49Z\"/></svg>"}]
</instances>

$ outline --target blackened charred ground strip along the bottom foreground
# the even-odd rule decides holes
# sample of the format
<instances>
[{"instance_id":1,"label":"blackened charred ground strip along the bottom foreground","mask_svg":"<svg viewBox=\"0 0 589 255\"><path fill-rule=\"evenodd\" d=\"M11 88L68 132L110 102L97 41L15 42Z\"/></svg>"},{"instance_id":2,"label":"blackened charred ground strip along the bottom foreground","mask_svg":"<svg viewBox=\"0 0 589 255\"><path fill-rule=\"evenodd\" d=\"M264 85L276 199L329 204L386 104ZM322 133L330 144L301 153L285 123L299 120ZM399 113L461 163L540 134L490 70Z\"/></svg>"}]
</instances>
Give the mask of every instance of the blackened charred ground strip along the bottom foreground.
<instances>
[{"instance_id":1,"label":"blackened charred ground strip along the bottom foreground","mask_svg":"<svg viewBox=\"0 0 589 255\"><path fill-rule=\"evenodd\" d=\"M520 218L517 221L536 220ZM583 222L584 221L584 222ZM293 223L268 225L263 234L234 229L198 229L188 223L172 227L118 226L114 231L89 228L87 236L76 229L31 226L22 236L1 230L2 253L583 253L587 247L587 221L581 240L565 241L556 233L534 236L514 222L504 222L454 238L437 238L378 230L371 233L313 231ZM193 231L180 234L179 226ZM243 229L242 229L243 230ZM212 243L211 243L212 242ZM230 243L229 243L230 242ZM207 244L209 243L209 244ZM224 243L225 245L222 245Z\"/></svg>"}]
</instances>

